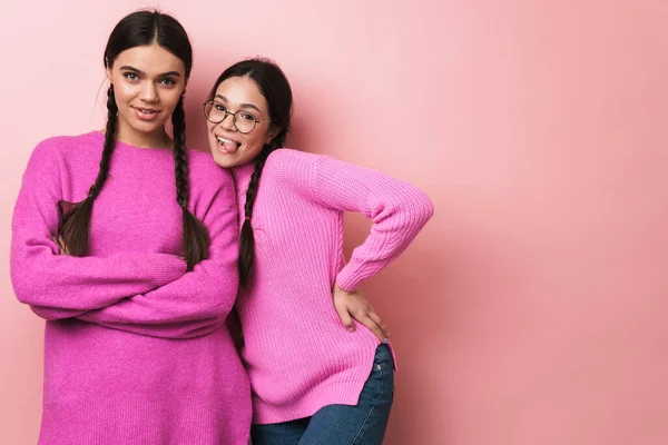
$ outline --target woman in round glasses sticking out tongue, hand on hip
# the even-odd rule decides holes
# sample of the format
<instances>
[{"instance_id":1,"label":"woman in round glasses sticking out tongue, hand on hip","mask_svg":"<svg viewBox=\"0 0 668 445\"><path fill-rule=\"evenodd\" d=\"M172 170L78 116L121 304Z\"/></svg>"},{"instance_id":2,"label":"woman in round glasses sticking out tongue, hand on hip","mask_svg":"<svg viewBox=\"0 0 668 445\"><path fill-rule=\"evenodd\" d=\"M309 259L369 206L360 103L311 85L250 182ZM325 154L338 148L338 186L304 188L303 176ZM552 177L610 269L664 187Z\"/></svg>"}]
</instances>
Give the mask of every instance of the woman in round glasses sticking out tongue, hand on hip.
<instances>
[{"instance_id":1,"label":"woman in round glasses sticking out tongue, hand on hip","mask_svg":"<svg viewBox=\"0 0 668 445\"><path fill-rule=\"evenodd\" d=\"M204 110L213 157L237 187L236 309L253 444L380 444L393 357L386 327L357 288L410 245L431 200L376 171L282 148L292 91L271 61L228 68ZM343 212L353 210L373 227L346 265Z\"/></svg>"}]
</instances>

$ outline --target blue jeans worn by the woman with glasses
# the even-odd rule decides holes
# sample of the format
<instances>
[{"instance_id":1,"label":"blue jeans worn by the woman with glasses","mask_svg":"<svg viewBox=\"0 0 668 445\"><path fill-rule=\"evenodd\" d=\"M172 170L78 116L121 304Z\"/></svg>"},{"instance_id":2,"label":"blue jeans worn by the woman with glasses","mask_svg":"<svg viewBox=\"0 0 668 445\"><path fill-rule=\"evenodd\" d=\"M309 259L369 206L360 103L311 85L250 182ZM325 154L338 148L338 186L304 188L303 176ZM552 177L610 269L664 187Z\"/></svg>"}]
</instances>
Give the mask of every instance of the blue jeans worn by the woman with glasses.
<instances>
[{"instance_id":1,"label":"blue jeans worn by the woman with glasses","mask_svg":"<svg viewBox=\"0 0 668 445\"><path fill-rule=\"evenodd\" d=\"M380 445L394 397L393 367L390 349L380 345L357 405L328 405L311 417L253 425L253 445Z\"/></svg>"}]
</instances>

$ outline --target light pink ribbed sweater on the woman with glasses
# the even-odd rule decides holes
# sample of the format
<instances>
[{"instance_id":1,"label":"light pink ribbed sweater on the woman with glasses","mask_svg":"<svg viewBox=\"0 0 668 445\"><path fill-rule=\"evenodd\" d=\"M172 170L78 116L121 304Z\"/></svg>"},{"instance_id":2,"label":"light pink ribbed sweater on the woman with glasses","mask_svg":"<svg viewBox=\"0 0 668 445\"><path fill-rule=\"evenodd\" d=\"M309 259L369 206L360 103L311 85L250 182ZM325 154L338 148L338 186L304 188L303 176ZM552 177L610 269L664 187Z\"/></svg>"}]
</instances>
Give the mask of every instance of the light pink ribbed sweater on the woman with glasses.
<instances>
[{"instance_id":1,"label":"light pink ribbed sweater on the woman with glasses","mask_svg":"<svg viewBox=\"0 0 668 445\"><path fill-rule=\"evenodd\" d=\"M240 209L253 168L234 170ZM347 265L344 211L373 219ZM255 275L237 299L254 423L357 404L380 342L360 324L347 332L332 287L355 290L396 258L432 214L421 190L376 171L289 149L269 156L252 218Z\"/></svg>"}]
</instances>

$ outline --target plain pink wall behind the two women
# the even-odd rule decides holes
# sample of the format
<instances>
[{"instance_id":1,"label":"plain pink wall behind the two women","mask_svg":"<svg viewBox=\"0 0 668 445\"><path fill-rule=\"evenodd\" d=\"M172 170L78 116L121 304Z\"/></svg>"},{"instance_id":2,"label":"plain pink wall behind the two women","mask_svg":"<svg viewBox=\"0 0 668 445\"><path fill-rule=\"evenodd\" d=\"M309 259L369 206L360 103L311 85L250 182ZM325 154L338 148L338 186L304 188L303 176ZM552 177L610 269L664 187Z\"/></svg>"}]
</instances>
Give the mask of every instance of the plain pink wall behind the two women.
<instances>
[{"instance_id":1,"label":"plain pink wall behind the two women","mask_svg":"<svg viewBox=\"0 0 668 445\"><path fill-rule=\"evenodd\" d=\"M43 322L13 297L35 145L101 127L102 50L149 3L0 11L0 443L33 444ZM411 181L436 216L364 287L401 370L387 444L668 443L668 3L160 1L189 31L189 141L242 57L276 59L291 145ZM100 89L101 88L101 89ZM369 224L352 216L348 248Z\"/></svg>"}]
</instances>

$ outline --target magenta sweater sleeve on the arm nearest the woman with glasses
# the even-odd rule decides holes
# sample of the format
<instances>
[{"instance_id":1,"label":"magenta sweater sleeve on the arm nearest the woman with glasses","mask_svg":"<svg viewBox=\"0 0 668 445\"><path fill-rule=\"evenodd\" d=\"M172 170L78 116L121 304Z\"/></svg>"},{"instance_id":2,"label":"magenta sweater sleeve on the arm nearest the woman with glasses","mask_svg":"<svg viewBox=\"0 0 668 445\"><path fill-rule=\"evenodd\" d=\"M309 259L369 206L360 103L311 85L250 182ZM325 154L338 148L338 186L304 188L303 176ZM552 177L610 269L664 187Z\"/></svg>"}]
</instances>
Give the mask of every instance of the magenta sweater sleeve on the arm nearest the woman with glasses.
<instances>
[{"instance_id":1,"label":"magenta sweater sleeve on the arm nearest the woman with glasses","mask_svg":"<svg viewBox=\"0 0 668 445\"><path fill-rule=\"evenodd\" d=\"M79 318L163 338L193 338L220 327L238 287L236 194L227 171L202 221L209 233L209 257L195 265L193 271L158 289Z\"/></svg>"}]
</instances>

